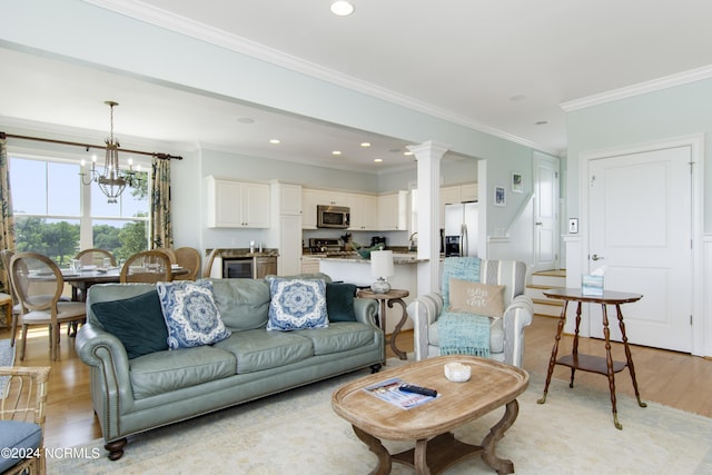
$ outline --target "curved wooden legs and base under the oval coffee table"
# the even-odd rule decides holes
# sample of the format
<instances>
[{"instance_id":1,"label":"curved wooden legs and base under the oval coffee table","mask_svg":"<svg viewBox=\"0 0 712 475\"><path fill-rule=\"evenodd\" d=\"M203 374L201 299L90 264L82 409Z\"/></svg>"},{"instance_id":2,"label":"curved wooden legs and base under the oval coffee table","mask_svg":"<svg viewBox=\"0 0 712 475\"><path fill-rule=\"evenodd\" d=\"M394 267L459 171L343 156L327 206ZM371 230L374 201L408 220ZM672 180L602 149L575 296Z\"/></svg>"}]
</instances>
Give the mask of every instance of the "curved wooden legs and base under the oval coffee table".
<instances>
[{"instance_id":1,"label":"curved wooden legs and base under the oval coffee table","mask_svg":"<svg viewBox=\"0 0 712 475\"><path fill-rule=\"evenodd\" d=\"M514 424L518 413L520 405L516 399L507 403L504 415L490 429L487 436L482 441L482 445L466 444L456 439L453 433L446 433L429 441L416 441L414 448L395 455L390 455L377 437L356 426L352 427L356 436L378 457L378 465L370 472L372 475L389 474L393 462L415 468L416 475L435 475L443 473L465 458L478 454L482 454L482 459L487 465L502 475L514 473L514 463L497 457L495 455L495 444L504 436L506 429Z\"/></svg>"}]
</instances>

